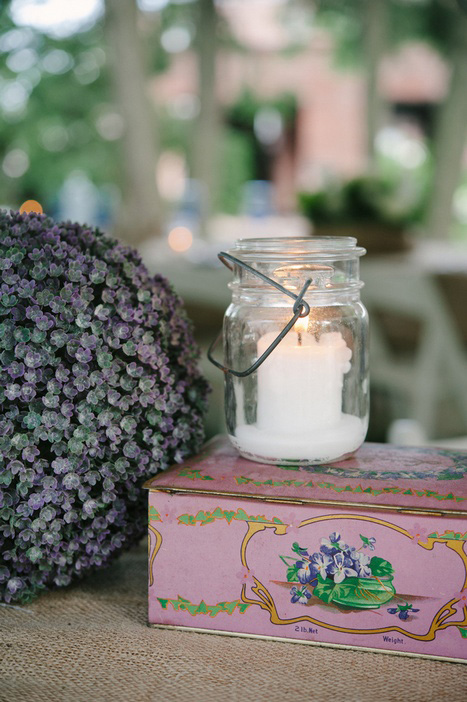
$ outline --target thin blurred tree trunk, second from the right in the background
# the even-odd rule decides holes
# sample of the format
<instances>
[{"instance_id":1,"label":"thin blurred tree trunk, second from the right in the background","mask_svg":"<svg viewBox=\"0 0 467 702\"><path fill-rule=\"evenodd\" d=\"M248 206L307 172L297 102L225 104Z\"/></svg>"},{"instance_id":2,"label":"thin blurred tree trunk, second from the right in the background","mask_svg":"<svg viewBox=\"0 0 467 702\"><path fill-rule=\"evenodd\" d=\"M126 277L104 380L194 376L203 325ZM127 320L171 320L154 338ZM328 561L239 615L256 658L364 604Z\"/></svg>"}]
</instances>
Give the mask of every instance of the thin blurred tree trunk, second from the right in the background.
<instances>
[{"instance_id":1,"label":"thin blurred tree trunk, second from the right in the background","mask_svg":"<svg viewBox=\"0 0 467 702\"><path fill-rule=\"evenodd\" d=\"M385 102L378 88L381 61L387 48L389 0L365 0L365 51L367 64L367 150L370 171L376 169L375 138L383 124Z\"/></svg>"}]
</instances>

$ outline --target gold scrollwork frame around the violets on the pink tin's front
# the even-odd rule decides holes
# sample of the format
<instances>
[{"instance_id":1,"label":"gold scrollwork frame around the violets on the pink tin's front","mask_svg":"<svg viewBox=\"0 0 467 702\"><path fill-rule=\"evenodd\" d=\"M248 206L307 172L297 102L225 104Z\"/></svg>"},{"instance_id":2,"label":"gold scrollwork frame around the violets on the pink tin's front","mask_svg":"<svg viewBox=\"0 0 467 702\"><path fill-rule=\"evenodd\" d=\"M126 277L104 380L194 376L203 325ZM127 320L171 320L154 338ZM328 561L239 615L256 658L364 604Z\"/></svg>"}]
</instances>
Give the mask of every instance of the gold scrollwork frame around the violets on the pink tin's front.
<instances>
[{"instance_id":1,"label":"gold scrollwork frame around the violets on the pink tin's front","mask_svg":"<svg viewBox=\"0 0 467 702\"><path fill-rule=\"evenodd\" d=\"M343 515L343 514L331 514L331 515L326 515L326 516L321 516L321 517L313 517L311 519L305 519L302 523L301 526L306 526L307 524L313 524L315 522L325 522L330 519L356 519L358 521L366 521L366 522L372 522L373 524L380 524L381 526L388 527L389 529L392 529L393 531L397 531L403 536L406 536L408 538L412 538L411 534L406 529L402 529L402 527L398 527L395 524L391 524L390 522L386 522L382 519L376 519L375 517L365 517L365 516L357 516L357 515ZM247 562L247 557L246 557L246 551L248 544L250 540L253 538L255 534L257 534L260 531L263 531L264 529L271 529L273 528L275 530L275 533L277 535L284 535L287 530L287 525L281 525L281 524L258 524L258 523L251 523L249 522L248 524L248 531L243 539L242 545L241 545L241 560L242 560L242 565L245 566L245 568L248 568L248 562ZM435 543L443 543L446 545L447 548L451 549L455 553L460 556L462 559L463 565L464 565L464 570L465 570L465 578L464 578L464 584L461 590L463 590L467 586L467 554L464 552L463 549L463 542L459 541L449 541L447 539L443 538L431 538L428 537L426 542L418 542L418 545L421 546L422 548L427 549L428 551L433 550L433 547ZM388 632L397 632L399 634L403 634L405 636L408 636L411 639L415 639L417 641L433 641L433 639L436 636L436 633L438 631L441 631L442 629L447 629L449 626L457 626L457 627L465 627L467 626L467 607L464 606L462 608L464 618L461 621L447 621L452 615L457 614L457 610L453 606L458 600L453 597L450 599L446 604L444 604L435 614L433 617L433 621L430 624L430 627L428 631L425 634L414 634L410 631L407 631L406 629L403 629L400 626L387 626L387 627L381 627L379 629L350 629L347 627L343 626L335 626L333 624L328 624L326 622L322 622L319 619L316 619L314 617L311 617L309 615L302 615L300 617L293 617L291 619L282 619L276 608L276 604L274 602L274 598L269 592L268 588L263 585L263 583L258 580L255 576L252 576L252 580L254 580L254 585L251 586L252 592L258 597L257 600L251 599L246 595L246 584L242 585L242 594L241 594L241 599L243 602L246 602L248 604L255 604L261 607L261 609L264 609L265 611L269 612L270 620L272 624L279 624L279 625L287 625L287 624L297 624L299 622L309 622L311 624L315 624L316 626L321 626L323 629L330 629L332 631L338 631L343 634L385 634Z\"/></svg>"}]
</instances>

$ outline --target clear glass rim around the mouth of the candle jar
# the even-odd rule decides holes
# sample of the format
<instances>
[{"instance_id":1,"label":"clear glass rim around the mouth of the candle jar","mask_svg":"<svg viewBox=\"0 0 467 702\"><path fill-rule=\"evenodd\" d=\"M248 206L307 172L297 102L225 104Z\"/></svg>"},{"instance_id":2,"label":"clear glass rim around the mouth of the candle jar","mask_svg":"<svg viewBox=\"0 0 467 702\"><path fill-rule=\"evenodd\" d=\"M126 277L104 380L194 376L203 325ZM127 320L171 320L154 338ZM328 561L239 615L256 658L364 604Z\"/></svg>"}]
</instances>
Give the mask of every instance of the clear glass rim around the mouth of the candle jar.
<instances>
[{"instance_id":1,"label":"clear glass rim around the mouth of the candle jar","mask_svg":"<svg viewBox=\"0 0 467 702\"><path fill-rule=\"evenodd\" d=\"M357 245L353 236L315 236L315 237L271 237L237 239L230 253L267 258L280 255L291 258L354 258L363 256L366 250Z\"/></svg>"}]
</instances>

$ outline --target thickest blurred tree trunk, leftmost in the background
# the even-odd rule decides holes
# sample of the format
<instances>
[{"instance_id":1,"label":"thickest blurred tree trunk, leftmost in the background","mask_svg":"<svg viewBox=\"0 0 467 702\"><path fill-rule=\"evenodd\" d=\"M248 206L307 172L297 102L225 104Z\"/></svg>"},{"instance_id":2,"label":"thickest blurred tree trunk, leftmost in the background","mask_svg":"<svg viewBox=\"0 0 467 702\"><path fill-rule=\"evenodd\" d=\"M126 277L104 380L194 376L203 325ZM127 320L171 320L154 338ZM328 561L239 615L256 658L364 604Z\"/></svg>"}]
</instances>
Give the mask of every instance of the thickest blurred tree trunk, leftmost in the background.
<instances>
[{"instance_id":1,"label":"thickest blurred tree trunk, leftmost in the background","mask_svg":"<svg viewBox=\"0 0 467 702\"><path fill-rule=\"evenodd\" d=\"M136 0L106 0L106 32L122 137L123 193L116 234L137 243L161 232L156 189L155 115L146 94Z\"/></svg>"}]
</instances>

